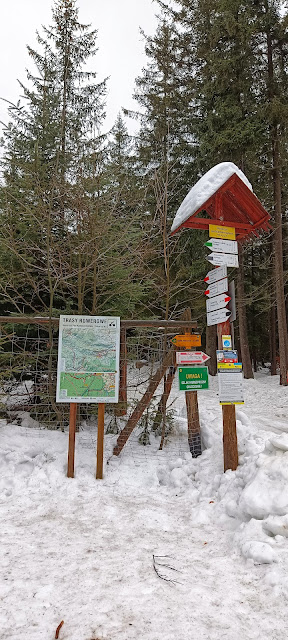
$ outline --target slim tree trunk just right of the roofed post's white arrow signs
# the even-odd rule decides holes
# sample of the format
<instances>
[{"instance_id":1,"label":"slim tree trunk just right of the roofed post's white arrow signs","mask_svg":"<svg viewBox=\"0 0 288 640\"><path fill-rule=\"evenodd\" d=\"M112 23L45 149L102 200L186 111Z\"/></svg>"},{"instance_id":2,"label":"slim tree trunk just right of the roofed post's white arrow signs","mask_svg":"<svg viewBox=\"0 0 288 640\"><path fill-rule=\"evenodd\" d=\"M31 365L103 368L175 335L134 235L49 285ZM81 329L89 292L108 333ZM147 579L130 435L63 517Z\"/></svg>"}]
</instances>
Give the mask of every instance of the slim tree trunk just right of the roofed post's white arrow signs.
<instances>
[{"instance_id":1,"label":"slim tree trunk just right of the roofed post's white arrow signs","mask_svg":"<svg viewBox=\"0 0 288 640\"><path fill-rule=\"evenodd\" d=\"M239 316L239 338L244 378L254 378L247 332L247 317L244 291L243 247L239 243L239 269L237 274L237 302Z\"/></svg>"}]
</instances>

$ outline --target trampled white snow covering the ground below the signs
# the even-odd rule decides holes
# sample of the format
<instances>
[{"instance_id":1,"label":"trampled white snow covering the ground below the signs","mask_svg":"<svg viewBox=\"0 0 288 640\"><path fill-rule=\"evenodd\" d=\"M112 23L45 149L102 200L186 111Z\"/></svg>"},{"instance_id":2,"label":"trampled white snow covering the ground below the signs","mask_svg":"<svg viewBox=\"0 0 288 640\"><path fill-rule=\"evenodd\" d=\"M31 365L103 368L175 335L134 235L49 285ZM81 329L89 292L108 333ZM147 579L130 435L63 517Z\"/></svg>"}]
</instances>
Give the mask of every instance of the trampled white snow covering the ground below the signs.
<instances>
[{"instance_id":1,"label":"trampled white snow covering the ground below the signs","mask_svg":"<svg viewBox=\"0 0 288 640\"><path fill-rule=\"evenodd\" d=\"M103 481L95 427L67 479L66 433L1 421L1 640L52 640L61 620L60 640L286 640L288 391L245 381L226 474L217 381L198 395L200 458L179 394L163 452L135 435L115 458L105 436Z\"/></svg>"}]
</instances>

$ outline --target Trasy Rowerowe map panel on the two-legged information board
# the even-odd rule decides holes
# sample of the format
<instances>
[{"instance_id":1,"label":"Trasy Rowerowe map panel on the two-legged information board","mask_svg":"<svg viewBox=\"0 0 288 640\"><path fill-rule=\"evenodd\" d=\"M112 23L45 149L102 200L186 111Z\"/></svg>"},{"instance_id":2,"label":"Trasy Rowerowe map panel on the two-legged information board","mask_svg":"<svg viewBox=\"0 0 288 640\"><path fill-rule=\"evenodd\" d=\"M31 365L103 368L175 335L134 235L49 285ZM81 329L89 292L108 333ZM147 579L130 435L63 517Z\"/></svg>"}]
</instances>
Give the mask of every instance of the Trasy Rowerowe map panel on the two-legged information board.
<instances>
[{"instance_id":1,"label":"Trasy Rowerowe map panel on the two-legged information board","mask_svg":"<svg viewBox=\"0 0 288 640\"><path fill-rule=\"evenodd\" d=\"M56 402L118 402L120 318L60 316Z\"/></svg>"}]
</instances>

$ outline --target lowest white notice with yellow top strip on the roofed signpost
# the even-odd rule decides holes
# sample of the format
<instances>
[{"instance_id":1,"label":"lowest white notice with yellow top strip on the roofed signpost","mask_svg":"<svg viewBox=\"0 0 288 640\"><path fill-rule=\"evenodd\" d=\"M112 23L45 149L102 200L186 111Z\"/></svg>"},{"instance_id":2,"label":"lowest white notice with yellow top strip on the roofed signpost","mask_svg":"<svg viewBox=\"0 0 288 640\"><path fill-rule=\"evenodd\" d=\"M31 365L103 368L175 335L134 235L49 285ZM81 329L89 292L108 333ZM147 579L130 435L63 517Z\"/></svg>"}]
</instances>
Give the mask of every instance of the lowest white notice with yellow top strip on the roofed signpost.
<instances>
[{"instance_id":1,"label":"lowest white notice with yellow top strip on the roofed signpost","mask_svg":"<svg viewBox=\"0 0 288 640\"><path fill-rule=\"evenodd\" d=\"M240 362L218 364L219 402L243 404L242 364Z\"/></svg>"}]
</instances>

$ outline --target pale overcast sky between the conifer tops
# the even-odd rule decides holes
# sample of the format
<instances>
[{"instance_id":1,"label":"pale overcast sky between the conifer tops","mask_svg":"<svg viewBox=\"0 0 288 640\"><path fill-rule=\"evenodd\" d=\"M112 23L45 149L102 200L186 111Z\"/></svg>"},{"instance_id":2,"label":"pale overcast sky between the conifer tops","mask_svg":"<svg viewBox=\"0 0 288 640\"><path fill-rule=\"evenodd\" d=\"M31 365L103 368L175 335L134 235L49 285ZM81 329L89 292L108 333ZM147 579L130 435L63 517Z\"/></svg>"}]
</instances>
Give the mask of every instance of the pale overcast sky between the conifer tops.
<instances>
[{"instance_id":1,"label":"pale overcast sky between the conifer tops","mask_svg":"<svg viewBox=\"0 0 288 640\"><path fill-rule=\"evenodd\" d=\"M1 6L0 37L0 120L8 121L7 103L16 102L21 95L19 79L26 84L25 69L33 72L33 62L26 45L38 47L36 30L51 23L52 0L8 0ZM121 107L137 108L132 99L134 80L145 65L143 37L139 27L148 35L156 29L156 6L153 0L78 0L79 20L98 29L98 53L90 62L97 71L99 82L108 81L107 117L105 130L109 130ZM135 122L127 121L129 131Z\"/></svg>"}]
</instances>

